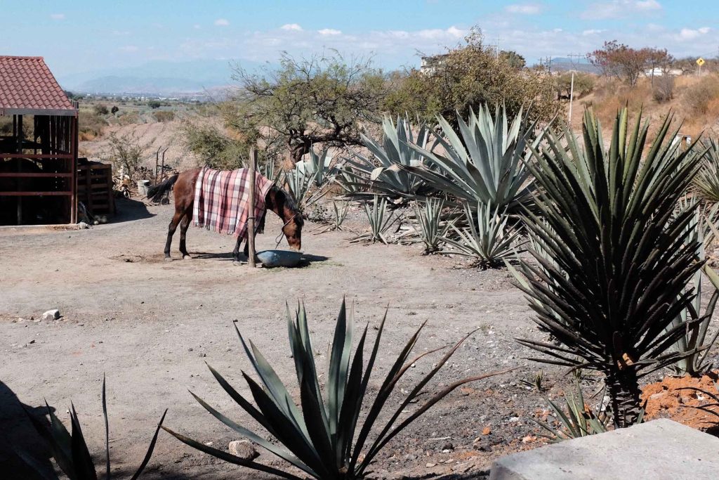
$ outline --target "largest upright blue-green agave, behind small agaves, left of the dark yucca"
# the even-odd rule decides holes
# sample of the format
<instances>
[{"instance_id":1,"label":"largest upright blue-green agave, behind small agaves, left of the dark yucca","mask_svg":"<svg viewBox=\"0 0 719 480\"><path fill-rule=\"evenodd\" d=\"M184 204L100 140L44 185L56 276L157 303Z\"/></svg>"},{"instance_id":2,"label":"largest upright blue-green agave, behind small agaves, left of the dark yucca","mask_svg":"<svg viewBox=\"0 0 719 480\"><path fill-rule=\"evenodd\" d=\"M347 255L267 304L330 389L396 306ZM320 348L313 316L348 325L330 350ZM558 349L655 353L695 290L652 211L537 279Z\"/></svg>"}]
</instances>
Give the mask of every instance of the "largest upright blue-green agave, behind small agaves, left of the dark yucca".
<instances>
[{"instance_id":1,"label":"largest upright blue-green agave, behind small agaves, left of the dark yucca","mask_svg":"<svg viewBox=\"0 0 719 480\"><path fill-rule=\"evenodd\" d=\"M457 118L462 137L443 117L437 117L441 132L432 151L410 144L421 154L421 166L400 166L422 178L439 191L472 204L493 204L498 211L518 212L531 202L533 180L523 158L528 155L528 138L536 124L526 124L520 109L510 123L504 107L497 107L494 117L487 106L477 114L470 111L469 122ZM539 145L541 135L533 140Z\"/></svg>"}]
</instances>

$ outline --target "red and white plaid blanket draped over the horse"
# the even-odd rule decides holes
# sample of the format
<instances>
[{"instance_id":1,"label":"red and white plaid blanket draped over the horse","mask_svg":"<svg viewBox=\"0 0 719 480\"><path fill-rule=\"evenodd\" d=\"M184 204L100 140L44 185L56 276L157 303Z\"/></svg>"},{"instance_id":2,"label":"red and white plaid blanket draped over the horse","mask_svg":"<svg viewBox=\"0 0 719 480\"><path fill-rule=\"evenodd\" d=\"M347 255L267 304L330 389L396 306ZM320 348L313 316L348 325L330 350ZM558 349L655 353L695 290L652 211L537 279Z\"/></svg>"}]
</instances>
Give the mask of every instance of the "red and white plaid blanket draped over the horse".
<instances>
[{"instance_id":1,"label":"red and white plaid blanket draped over the horse","mask_svg":"<svg viewBox=\"0 0 719 480\"><path fill-rule=\"evenodd\" d=\"M265 215L265 196L272 186L265 176L255 173L256 225L260 225ZM249 219L249 170L203 168L195 184L192 217L196 227L245 237Z\"/></svg>"}]
</instances>

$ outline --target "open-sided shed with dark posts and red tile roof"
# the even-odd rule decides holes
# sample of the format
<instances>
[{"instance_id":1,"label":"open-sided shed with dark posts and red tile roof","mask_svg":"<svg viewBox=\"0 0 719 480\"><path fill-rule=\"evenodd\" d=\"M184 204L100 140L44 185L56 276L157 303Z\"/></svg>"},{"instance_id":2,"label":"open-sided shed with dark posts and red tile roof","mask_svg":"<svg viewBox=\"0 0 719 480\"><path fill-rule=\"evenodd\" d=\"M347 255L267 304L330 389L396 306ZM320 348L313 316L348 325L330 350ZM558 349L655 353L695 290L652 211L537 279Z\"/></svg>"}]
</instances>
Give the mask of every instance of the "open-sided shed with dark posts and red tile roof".
<instances>
[{"instance_id":1,"label":"open-sided shed with dark posts and red tile roof","mask_svg":"<svg viewBox=\"0 0 719 480\"><path fill-rule=\"evenodd\" d=\"M78 105L42 57L0 56L0 225L77 221Z\"/></svg>"}]
</instances>

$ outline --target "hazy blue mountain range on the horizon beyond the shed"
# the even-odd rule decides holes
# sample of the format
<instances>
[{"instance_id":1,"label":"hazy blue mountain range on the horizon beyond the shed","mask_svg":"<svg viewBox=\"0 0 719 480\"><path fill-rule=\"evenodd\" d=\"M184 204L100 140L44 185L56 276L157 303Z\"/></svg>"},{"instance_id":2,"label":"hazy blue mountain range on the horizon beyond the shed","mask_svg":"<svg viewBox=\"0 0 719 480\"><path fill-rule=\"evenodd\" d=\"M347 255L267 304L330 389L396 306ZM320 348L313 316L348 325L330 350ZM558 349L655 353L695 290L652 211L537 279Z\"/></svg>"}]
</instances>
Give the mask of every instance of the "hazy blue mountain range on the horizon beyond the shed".
<instances>
[{"instance_id":1,"label":"hazy blue mountain range on the horizon beyond the shed","mask_svg":"<svg viewBox=\"0 0 719 480\"><path fill-rule=\"evenodd\" d=\"M58 77L63 89L82 94L187 96L232 85L234 65L254 73L265 63L247 60L152 61L137 67Z\"/></svg>"}]
</instances>

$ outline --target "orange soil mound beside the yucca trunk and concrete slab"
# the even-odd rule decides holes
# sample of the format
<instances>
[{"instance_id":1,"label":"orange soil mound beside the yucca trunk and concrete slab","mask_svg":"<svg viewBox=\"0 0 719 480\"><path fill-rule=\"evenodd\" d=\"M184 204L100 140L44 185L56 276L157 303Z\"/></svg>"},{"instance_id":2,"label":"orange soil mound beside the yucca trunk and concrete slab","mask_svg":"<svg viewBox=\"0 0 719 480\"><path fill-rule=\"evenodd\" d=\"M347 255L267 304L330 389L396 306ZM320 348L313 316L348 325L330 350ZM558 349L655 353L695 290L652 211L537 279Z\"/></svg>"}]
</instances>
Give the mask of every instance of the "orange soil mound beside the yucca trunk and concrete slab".
<instances>
[{"instance_id":1,"label":"orange soil mound beside the yucca trunk and concrete slab","mask_svg":"<svg viewBox=\"0 0 719 480\"><path fill-rule=\"evenodd\" d=\"M717 372L711 372L701 378L667 376L662 381L645 386L641 399L646 402L646 420L671 418L675 422L700 430L719 426L719 417L692 408L715 403L711 397L699 391L682 390L691 386L719 396L715 385L718 378ZM719 413L719 407L712 409Z\"/></svg>"}]
</instances>

